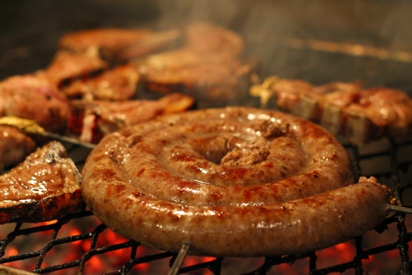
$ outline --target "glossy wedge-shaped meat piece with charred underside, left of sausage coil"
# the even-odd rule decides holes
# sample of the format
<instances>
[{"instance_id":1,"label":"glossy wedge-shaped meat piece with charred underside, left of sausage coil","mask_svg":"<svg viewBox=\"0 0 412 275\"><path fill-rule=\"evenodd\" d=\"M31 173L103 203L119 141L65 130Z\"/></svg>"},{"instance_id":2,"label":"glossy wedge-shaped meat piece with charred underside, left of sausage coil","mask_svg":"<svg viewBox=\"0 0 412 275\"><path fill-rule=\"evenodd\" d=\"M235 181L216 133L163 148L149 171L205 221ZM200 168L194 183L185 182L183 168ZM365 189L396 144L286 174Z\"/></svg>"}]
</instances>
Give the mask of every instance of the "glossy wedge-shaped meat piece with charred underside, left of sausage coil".
<instances>
[{"instance_id":1,"label":"glossy wedge-shaped meat piece with charred underside, left of sausage coil","mask_svg":"<svg viewBox=\"0 0 412 275\"><path fill-rule=\"evenodd\" d=\"M84 208L80 172L51 141L0 177L0 224L43 222Z\"/></svg>"}]
</instances>

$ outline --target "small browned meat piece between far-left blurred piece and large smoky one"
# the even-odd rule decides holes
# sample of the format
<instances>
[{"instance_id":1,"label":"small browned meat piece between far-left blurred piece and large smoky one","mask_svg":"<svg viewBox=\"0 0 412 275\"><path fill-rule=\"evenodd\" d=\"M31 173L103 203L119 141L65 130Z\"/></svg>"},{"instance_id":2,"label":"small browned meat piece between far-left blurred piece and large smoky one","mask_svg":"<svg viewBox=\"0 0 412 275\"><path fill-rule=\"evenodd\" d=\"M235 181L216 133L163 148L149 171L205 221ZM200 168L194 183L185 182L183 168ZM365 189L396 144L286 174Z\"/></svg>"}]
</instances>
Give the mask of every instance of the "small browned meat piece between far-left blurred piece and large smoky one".
<instances>
[{"instance_id":1,"label":"small browned meat piece between far-left blurred piece and large smoky one","mask_svg":"<svg viewBox=\"0 0 412 275\"><path fill-rule=\"evenodd\" d=\"M137 67L125 64L94 78L76 80L61 91L71 99L127 100L136 94L138 78Z\"/></svg>"}]
</instances>

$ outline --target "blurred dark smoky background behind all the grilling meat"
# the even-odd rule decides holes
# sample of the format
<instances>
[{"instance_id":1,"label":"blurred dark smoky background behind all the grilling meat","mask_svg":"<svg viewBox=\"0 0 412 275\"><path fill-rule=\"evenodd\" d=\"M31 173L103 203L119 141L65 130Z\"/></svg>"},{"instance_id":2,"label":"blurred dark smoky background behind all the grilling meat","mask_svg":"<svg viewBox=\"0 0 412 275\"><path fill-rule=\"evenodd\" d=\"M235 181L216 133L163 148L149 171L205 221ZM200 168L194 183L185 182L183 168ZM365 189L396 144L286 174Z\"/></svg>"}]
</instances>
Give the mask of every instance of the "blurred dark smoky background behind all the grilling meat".
<instances>
[{"instance_id":1,"label":"blurred dark smoky background behind all the grilling meat","mask_svg":"<svg viewBox=\"0 0 412 275\"><path fill-rule=\"evenodd\" d=\"M203 20L238 31L247 54L260 60L262 77L361 80L412 94L411 15L412 2L404 0L6 0L0 1L0 79L44 68L58 39L74 30L165 30ZM359 44L391 55L299 48L287 43L290 38Z\"/></svg>"}]
</instances>

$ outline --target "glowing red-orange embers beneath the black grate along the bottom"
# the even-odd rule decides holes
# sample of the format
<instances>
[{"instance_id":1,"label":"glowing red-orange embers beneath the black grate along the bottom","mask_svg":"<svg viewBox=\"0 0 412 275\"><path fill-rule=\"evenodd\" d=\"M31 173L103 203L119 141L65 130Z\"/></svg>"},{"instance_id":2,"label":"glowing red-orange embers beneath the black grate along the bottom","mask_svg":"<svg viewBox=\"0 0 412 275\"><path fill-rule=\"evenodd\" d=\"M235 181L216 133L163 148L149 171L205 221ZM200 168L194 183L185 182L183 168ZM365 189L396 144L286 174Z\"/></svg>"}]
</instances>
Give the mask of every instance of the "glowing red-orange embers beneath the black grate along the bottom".
<instances>
[{"instance_id":1,"label":"glowing red-orange embers beneath the black grate along the bottom","mask_svg":"<svg viewBox=\"0 0 412 275\"><path fill-rule=\"evenodd\" d=\"M406 217L406 228L412 218ZM59 221L38 224L1 226L1 255L4 265L48 274L167 274L175 254L143 245L132 245L127 238L105 228L93 215L60 225ZM27 229L38 232L27 233ZM42 230L40 230L42 229ZM7 233L10 232L10 233ZM20 233L16 233L20 232ZM15 236L13 236L15 234ZM400 249L382 249L397 242L397 223L391 222L382 233L368 231L360 240L354 239L301 258L291 256L267 258L215 258L186 256L181 273L244 274L264 271L266 274L353 274L361 269L367 274L395 274L402 269ZM359 257L356 242L367 256ZM49 247L50 246L50 247ZM45 248L46 247L46 248ZM409 254L412 248L409 246ZM19 259L19 255L27 257ZM40 260L41 259L41 260ZM218 266L219 270L215 270ZM126 267L126 268L125 268Z\"/></svg>"}]
</instances>

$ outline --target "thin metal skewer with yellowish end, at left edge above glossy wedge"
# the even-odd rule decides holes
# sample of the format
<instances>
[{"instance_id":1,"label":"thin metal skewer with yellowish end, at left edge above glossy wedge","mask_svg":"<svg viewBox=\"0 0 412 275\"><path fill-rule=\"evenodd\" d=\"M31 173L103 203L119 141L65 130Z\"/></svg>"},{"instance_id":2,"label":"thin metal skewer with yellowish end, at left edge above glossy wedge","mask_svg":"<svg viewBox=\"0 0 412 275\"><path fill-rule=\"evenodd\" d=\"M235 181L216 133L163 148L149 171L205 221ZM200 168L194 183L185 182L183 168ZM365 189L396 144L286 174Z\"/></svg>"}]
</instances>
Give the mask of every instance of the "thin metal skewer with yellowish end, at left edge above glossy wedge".
<instances>
[{"instance_id":1,"label":"thin metal skewer with yellowish end, at left edge above glossy wedge","mask_svg":"<svg viewBox=\"0 0 412 275\"><path fill-rule=\"evenodd\" d=\"M93 143L87 143L79 141L78 139L73 139L69 136L62 136L60 134L55 134L52 132L48 132L44 130L43 127L39 126L36 121L32 121L26 118L19 118L17 116L3 116L0 118L0 125L8 125L12 127L16 127L21 132L25 134L35 134L39 136L44 136L49 139L53 139L56 141L63 141L72 143L75 145L80 145L84 148L93 149L96 145Z\"/></svg>"}]
</instances>

